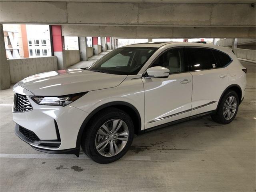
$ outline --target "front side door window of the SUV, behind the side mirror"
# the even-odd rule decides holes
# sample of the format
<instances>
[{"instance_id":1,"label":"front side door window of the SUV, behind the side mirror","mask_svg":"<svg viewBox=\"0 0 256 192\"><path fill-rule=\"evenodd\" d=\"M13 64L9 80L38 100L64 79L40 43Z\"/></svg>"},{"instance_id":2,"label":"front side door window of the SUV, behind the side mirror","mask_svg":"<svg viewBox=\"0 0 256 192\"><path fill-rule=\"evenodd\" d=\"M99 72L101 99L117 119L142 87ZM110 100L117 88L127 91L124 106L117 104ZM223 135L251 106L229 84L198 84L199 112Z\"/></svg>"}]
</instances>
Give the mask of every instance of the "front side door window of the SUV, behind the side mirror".
<instances>
[{"instance_id":1,"label":"front side door window of the SUV, behind the side mirror","mask_svg":"<svg viewBox=\"0 0 256 192\"><path fill-rule=\"evenodd\" d=\"M150 67L155 66L168 68L170 70L170 73L186 71L184 67L183 49L175 48L167 50L166 52L161 54Z\"/></svg>"}]
</instances>

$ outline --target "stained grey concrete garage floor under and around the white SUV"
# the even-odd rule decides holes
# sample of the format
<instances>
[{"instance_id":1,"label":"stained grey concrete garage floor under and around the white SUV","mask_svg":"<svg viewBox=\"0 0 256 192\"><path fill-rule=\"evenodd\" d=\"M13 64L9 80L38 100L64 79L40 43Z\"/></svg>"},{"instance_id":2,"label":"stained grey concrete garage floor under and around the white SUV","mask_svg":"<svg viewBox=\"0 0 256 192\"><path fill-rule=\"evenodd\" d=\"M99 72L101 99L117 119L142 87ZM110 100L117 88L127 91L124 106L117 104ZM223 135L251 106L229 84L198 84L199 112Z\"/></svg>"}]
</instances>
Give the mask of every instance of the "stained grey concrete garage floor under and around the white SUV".
<instances>
[{"instance_id":1,"label":"stained grey concrete garage floor under and around the white SUV","mask_svg":"<svg viewBox=\"0 0 256 192\"><path fill-rule=\"evenodd\" d=\"M255 188L256 71L235 120L198 118L134 138L120 160L38 152L14 134L12 90L0 91L0 191L243 191Z\"/></svg>"}]
</instances>

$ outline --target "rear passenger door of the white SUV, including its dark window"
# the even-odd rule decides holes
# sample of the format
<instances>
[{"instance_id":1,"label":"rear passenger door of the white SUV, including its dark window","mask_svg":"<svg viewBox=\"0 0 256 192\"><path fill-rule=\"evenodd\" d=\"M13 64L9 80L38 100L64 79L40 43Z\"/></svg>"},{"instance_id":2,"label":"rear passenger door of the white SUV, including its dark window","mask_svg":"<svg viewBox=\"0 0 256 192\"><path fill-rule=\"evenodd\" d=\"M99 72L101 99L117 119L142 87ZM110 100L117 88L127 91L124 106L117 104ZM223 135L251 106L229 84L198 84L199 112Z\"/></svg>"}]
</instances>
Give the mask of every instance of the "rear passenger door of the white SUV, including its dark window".
<instances>
[{"instance_id":1,"label":"rear passenger door of the white SUV, including its dark window","mask_svg":"<svg viewBox=\"0 0 256 192\"><path fill-rule=\"evenodd\" d=\"M186 47L186 54L193 76L190 116L215 110L228 84L228 70L222 68L209 48Z\"/></svg>"}]
</instances>

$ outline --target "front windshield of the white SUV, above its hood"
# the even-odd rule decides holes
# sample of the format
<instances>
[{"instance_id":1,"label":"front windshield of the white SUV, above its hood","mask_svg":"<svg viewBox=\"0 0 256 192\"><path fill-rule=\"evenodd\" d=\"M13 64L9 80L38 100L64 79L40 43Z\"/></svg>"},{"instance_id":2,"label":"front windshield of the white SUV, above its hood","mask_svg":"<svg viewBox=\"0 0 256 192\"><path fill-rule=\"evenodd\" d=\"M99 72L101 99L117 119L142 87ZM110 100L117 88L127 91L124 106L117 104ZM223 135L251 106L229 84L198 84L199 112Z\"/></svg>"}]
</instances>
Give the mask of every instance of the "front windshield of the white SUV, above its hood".
<instances>
[{"instance_id":1,"label":"front windshield of the white SUV, above its hood","mask_svg":"<svg viewBox=\"0 0 256 192\"><path fill-rule=\"evenodd\" d=\"M121 47L102 57L88 70L118 75L135 75L157 49L152 47Z\"/></svg>"}]
</instances>

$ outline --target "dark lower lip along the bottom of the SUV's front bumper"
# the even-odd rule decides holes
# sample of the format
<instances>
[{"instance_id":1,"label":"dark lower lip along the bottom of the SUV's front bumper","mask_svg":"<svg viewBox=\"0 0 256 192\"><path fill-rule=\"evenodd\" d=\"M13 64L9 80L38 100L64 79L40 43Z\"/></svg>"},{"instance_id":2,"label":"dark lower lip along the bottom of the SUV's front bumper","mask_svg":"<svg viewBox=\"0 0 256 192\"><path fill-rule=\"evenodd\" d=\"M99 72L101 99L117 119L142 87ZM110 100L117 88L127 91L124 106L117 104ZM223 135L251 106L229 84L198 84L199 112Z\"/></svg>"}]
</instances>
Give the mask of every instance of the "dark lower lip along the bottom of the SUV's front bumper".
<instances>
[{"instance_id":1,"label":"dark lower lip along the bottom of the SUV's front bumper","mask_svg":"<svg viewBox=\"0 0 256 192\"><path fill-rule=\"evenodd\" d=\"M37 151L50 153L50 154L75 154L77 157L79 157L80 146L78 148L71 148L71 149L64 149L64 150L54 150L54 148L50 149L50 148L40 148L40 147L33 146L33 143L38 143L38 142L43 141L43 140L31 142L30 140L28 140L25 136L23 136L19 132L19 125L18 124L15 125L15 134L16 134L16 136L18 136L18 138L20 138L22 141L29 144L33 149L35 149ZM49 140L48 140L48 142L49 142Z\"/></svg>"}]
</instances>

